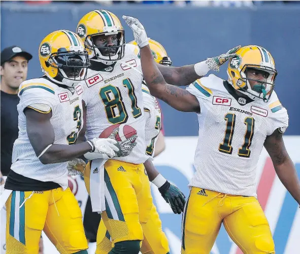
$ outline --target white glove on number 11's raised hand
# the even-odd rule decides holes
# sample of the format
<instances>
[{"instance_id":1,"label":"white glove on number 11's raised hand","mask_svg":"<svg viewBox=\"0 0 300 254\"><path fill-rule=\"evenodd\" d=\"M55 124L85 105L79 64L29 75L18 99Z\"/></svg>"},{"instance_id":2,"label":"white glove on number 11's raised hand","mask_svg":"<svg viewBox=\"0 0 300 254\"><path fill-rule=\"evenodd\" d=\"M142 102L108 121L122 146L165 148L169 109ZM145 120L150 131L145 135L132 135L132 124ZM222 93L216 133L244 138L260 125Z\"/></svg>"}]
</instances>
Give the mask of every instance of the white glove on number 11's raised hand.
<instances>
[{"instance_id":1,"label":"white glove on number 11's raised hand","mask_svg":"<svg viewBox=\"0 0 300 254\"><path fill-rule=\"evenodd\" d=\"M134 32L135 41L139 45L139 48L143 48L149 45L145 28L141 24L141 22L134 17L123 15L122 18L125 20L127 25L131 28L131 30Z\"/></svg>"}]
</instances>

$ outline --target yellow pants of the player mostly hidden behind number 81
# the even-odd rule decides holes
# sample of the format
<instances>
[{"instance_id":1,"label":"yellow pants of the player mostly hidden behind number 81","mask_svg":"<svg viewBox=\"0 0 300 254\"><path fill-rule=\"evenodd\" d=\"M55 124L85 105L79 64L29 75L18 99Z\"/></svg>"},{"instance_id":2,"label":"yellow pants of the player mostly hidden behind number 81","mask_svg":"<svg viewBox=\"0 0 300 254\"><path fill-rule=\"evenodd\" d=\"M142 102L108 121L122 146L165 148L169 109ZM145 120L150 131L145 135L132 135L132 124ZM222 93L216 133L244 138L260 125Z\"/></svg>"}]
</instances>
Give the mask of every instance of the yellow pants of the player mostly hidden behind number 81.
<instances>
[{"instance_id":1,"label":"yellow pants of the player mostly hidden behind number 81","mask_svg":"<svg viewBox=\"0 0 300 254\"><path fill-rule=\"evenodd\" d=\"M166 254L170 251L168 238L166 238L162 231L161 221L154 204L152 205L148 222L141 223L141 225L144 233L144 240L141 246L143 254ZM97 232L97 248L95 253L107 254L111 251L112 247L110 234L104 222L101 221Z\"/></svg>"}]
</instances>

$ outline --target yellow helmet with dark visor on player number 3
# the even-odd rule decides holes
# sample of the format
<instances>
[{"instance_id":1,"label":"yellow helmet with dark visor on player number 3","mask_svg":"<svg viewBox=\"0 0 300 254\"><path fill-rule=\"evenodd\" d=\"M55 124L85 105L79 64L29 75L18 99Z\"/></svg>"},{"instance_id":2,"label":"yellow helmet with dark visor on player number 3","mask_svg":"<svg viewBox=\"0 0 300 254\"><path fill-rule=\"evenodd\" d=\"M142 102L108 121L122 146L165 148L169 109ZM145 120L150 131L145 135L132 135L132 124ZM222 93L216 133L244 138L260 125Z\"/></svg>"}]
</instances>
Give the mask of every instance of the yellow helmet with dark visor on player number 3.
<instances>
[{"instance_id":1,"label":"yellow helmet with dark visor on player number 3","mask_svg":"<svg viewBox=\"0 0 300 254\"><path fill-rule=\"evenodd\" d=\"M57 30L48 34L40 44L39 59L42 71L59 84L73 86L86 78L88 53L72 31Z\"/></svg>"}]
</instances>

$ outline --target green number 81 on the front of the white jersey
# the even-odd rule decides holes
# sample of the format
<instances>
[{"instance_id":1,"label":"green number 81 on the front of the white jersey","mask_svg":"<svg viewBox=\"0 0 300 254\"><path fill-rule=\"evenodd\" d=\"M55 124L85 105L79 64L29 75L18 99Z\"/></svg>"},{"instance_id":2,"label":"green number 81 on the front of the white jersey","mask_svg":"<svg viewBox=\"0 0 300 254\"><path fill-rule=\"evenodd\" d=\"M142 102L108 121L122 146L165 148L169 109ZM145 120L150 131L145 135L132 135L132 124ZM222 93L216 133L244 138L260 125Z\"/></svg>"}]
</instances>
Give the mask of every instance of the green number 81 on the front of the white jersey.
<instances>
[{"instance_id":1,"label":"green number 81 on the front of the white jersey","mask_svg":"<svg viewBox=\"0 0 300 254\"><path fill-rule=\"evenodd\" d=\"M142 115L142 112L137 105L135 88L132 85L130 79L124 79L122 83L123 86L128 89L128 97L131 100L132 116L134 118L138 118ZM118 87L112 85L103 87L100 89L99 95L103 103L105 104L106 116L111 124L120 124L127 122L128 114L126 112L124 102L122 101L122 95Z\"/></svg>"}]
</instances>

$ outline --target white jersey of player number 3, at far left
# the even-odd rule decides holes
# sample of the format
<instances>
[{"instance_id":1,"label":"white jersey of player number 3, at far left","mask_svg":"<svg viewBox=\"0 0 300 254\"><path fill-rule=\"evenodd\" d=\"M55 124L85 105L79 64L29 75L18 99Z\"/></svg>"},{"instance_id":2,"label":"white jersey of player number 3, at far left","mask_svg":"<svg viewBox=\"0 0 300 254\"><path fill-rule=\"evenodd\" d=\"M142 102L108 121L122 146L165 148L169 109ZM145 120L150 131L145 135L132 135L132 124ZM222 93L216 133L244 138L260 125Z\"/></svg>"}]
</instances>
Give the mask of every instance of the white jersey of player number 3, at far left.
<instances>
[{"instance_id":1,"label":"white jersey of player number 3, at far left","mask_svg":"<svg viewBox=\"0 0 300 254\"><path fill-rule=\"evenodd\" d=\"M82 93L80 84L66 89L44 78L21 84L18 93L19 136L14 143L11 166L14 172L42 182L57 183L64 189L68 187L68 162L42 164L27 136L23 111L25 107L44 113L52 110L50 122L55 135L54 144L74 144L83 123Z\"/></svg>"}]
</instances>

